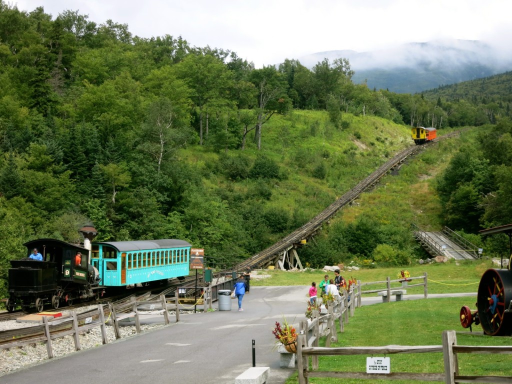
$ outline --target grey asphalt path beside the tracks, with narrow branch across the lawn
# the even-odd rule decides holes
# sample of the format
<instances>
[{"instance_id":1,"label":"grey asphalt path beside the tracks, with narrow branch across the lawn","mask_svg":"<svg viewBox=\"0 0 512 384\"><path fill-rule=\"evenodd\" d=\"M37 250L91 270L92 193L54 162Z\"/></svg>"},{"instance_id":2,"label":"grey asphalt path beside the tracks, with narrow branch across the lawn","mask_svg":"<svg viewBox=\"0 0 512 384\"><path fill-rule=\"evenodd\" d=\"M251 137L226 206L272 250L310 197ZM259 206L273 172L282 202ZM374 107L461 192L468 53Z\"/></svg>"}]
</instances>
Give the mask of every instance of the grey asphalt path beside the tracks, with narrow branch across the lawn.
<instances>
[{"instance_id":1,"label":"grey asphalt path beside the tracks, with narrow branch across the lawn","mask_svg":"<svg viewBox=\"0 0 512 384\"><path fill-rule=\"evenodd\" d=\"M283 316L298 326L304 319L308 286L252 287L243 309L181 315L179 323L78 351L0 377L3 384L152 384L234 383L252 367L252 340L257 367L270 367L266 384L283 384L295 369L280 368L271 331ZM460 294L460 295L476 295ZM429 295L443 297L446 295ZM453 296L453 295L451 295ZM404 300L422 298L407 295ZM364 297L363 305L382 303ZM214 304L218 308L218 303ZM158 321L161 321L159 316ZM148 320L151 321L151 320ZM153 319L155 321L155 319Z\"/></svg>"}]
</instances>

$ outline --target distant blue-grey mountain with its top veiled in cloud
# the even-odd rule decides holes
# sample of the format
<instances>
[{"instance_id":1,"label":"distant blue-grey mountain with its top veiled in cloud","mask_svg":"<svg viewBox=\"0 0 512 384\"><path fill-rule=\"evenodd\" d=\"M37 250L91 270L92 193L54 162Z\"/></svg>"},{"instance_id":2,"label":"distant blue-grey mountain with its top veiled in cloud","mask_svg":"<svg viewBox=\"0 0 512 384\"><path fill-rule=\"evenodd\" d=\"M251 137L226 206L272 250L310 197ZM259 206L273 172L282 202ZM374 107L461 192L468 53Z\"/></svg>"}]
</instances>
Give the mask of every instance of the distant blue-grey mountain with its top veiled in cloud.
<instances>
[{"instance_id":1,"label":"distant blue-grey mountain with its top veiled in cloud","mask_svg":"<svg viewBox=\"0 0 512 384\"><path fill-rule=\"evenodd\" d=\"M355 83L396 93L416 93L512 70L512 56L477 40L411 42L392 49L318 52L298 58L312 68L328 58L347 58Z\"/></svg>"}]
</instances>

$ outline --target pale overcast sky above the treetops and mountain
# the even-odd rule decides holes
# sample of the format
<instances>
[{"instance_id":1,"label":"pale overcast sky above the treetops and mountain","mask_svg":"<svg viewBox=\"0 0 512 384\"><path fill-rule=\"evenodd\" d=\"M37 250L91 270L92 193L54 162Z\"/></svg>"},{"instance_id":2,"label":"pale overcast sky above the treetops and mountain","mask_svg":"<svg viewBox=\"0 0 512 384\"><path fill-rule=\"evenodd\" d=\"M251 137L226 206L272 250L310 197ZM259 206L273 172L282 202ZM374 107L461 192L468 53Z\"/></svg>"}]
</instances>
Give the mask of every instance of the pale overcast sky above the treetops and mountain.
<instances>
[{"instance_id":1,"label":"pale overcast sky above the treetops and mountain","mask_svg":"<svg viewBox=\"0 0 512 384\"><path fill-rule=\"evenodd\" d=\"M133 35L182 36L191 46L222 48L262 65L316 52L365 52L404 42L482 40L510 51L510 0L7 0L42 6L55 18L79 11Z\"/></svg>"}]
</instances>

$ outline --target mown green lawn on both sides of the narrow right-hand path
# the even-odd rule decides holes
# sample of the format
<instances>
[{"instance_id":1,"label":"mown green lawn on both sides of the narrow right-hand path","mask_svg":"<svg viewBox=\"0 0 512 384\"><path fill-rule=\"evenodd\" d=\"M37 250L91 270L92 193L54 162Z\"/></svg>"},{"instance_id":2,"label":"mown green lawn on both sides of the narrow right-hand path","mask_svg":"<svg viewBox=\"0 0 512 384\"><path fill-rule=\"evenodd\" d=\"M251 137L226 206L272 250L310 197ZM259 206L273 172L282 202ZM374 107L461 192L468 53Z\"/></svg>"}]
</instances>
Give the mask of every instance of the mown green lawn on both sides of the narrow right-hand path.
<instances>
[{"instance_id":1,"label":"mown green lawn on both sides of the narrow right-hand path","mask_svg":"<svg viewBox=\"0 0 512 384\"><path fill-rule=\"evenodd\" d=\"M428 273L429 293L458 293L476 292L482 273L492 268L489 260L475 262L447 262L444 264L429 264L410 266L407 270L411 276L420 276ZM352 272L342 272L345 279L351 276L361 283L385 281L387 276L392 280L398 279L400 268L375 268L360 269ZM274 285L307 285L312 281L319 283L325 274L322 270L306 271L278 271L261 270L258 274L269 274L266 279L251 280L252 286ZM334 276L334 273L328 273ZM410 284L419 283L413 280ZM382 289L385 284L364 286L367 289ZM394 286L399 286L395 283ZM407 293L423 293L423 287L407 288ZM376 296L376 293L371 295ZM459 320L459 311L463 305L475 309L475 296L453 298L429 298L428 300L408 300L401 302L379 303L364 306L355 310L354 317L345 324L345 331L338 333L338 343L331 347L353 346L423 346L442 345L442 332L455 330L458 345L496 345L509 346L511 337L484 336L480 326L473 325L473 334L462 328ZM339 332L339 328L338 328ZM321 346L325 346L325 338L321 339ZM366 355L356 356L321 356L319 358L320 371L348 371L366 372ZM373 356L379 357L379 356ZM443 356L441 353L421 354L393 354L391 359L391 372L430 372L441 373L444 371ZM496 375L512 376L512 358L510 355L498 354L459 354L459 374L461 375ZM286 384L297 382L297 374L294 373ZM310 378L311 383L334 384L339 379L334 378ZM344 384L352 383L386 383L389 380L344 379ZM411 381L396 380L395 383ZM429 382L429 381L412 381Z\"/></svg>"}]
</instances>

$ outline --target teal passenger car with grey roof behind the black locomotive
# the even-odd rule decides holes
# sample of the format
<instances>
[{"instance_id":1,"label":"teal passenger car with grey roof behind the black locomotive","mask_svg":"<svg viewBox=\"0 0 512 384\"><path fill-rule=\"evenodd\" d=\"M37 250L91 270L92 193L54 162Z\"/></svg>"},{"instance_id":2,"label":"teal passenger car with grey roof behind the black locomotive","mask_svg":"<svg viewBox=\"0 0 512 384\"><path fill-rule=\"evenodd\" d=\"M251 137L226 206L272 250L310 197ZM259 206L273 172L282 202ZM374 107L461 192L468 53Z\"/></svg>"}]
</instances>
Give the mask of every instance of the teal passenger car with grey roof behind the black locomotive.
<instances>
[{"instance_id":1,"label":"teal passenger car with grey roof behind the black locomotive","mask_svg":"<svg viewBox=\"0 0 512 384\"><path fill-rule=\"evenodd\" d=\"M188 275L190 247L177 239L93 242L91 264L107 287L166 281Z\"/></svg>"}]
</instances>

